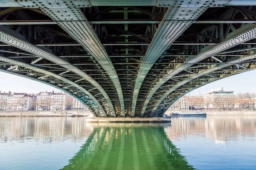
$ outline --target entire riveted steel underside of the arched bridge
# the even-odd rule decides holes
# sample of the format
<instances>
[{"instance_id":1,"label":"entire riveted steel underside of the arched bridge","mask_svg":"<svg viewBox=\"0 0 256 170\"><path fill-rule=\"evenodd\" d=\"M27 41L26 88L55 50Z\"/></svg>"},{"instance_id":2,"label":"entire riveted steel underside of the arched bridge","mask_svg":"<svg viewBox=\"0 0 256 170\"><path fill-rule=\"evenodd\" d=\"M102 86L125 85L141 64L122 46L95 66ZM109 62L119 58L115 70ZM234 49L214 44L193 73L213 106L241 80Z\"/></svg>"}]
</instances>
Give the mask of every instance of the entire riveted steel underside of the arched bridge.
<instances>
[{"instance_id":1,"label":"entire riveted steel underside of the arched bridge","mask_svg":"<svg viewBox=\"0 0 256 170\"><path fill-rule=\"evenodd\" d=\"M0 71L94 116L163 116L184 94L256 68L254 0L1 0Z\"/></svg>"}]
</instances>

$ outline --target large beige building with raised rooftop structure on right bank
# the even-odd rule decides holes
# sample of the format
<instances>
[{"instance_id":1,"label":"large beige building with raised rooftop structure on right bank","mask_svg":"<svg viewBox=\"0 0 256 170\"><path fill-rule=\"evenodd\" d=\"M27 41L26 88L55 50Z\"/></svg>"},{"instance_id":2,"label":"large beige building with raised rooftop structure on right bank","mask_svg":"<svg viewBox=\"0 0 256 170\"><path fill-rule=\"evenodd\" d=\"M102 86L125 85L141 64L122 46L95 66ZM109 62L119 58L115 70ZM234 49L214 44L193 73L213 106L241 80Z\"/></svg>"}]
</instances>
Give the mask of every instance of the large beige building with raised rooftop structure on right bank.
<instances>
[{"instance_id":1,"label":"large beige building with raised rooftop structure on right bank","mask_svg":"<svg viewBox=\"0 0 256 170\"><path fill-rule=\"evenodd\" d=\"M204 94L204 104L207 109L231 109L235 105L234 91L224 91L223 88L213 88Z\"/></svg>"}]
</instances>

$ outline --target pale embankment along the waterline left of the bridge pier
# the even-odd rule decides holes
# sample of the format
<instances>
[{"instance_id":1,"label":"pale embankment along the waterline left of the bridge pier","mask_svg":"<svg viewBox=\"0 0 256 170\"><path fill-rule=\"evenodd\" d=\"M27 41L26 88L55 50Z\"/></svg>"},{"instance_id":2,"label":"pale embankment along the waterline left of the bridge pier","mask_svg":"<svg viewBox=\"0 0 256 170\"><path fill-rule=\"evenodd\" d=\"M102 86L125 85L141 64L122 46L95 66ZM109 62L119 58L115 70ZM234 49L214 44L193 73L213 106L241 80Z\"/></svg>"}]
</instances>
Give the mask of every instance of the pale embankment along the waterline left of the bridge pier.
<instances>
[{"instance_id":1,"label":"pale embankment along the waterline left of the bridge pier","mask_svg":"<svg viewBox=\"0 0 256 170\"><path fill-rule=\"evenodd\" d=\"M61 112L61 113L73 113L76 116L90 116L92 113L90 111L0 111L0 117L34 117L36 114L50 114L54 112Z\"/></svg>"}]
</instances>

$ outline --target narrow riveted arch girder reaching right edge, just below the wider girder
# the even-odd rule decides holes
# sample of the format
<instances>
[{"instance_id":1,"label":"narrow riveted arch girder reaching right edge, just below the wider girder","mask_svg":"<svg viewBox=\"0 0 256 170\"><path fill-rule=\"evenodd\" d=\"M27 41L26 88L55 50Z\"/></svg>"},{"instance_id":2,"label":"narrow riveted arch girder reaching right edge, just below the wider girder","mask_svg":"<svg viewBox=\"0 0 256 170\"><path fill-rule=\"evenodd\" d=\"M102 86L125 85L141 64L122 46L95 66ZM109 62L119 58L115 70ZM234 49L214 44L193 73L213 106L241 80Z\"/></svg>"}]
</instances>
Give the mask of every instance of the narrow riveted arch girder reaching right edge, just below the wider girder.
<instances>
[{"instance_id":1,"label":"narrow riveted arch girder reaching right edge, just below the wider girder","mask_svg":"<svg viewBox=\"0 0 256 170\"><path fill-rule=\"evenodd\" d=\"M166 91L166 93L160 98L160 100L157 101L157 104L154 105L154 108L151 112L151 114L154 114L155 111L157 110L157 108L159 107L159 105L161 104L161 102L163 102L163 100L169 95L171 94L173 91L175 91L177 88L185 85L186 83L188 82L191 82L193 81L194 79L197 79L199 77L202 77L204 75L207 75L207 74L210 74L212 73L213 71L217 71L221 68L226 68L228 66L231 66L231 65L234 65L234 64L238 64L240 62L244 62L244 61L247 61L247 60L250 60L250 59L254 59L256 58L256 54L252 54L252 55L248 55L246 57L241 57L241 58L238 58L238 59L232 59L228 62L221 62L221 64L219 65L216 65L215 67L213 68L209 68L207 71L203 71L201 73L198 73L198 74L194 74L194 76L192 77L189 77L188 79L182 81L182 82L179 82L177 85L175 85L174 87L170 88L168 91ZM215 77L217 78L217 77Z\"/></svg>"}]
</instances>

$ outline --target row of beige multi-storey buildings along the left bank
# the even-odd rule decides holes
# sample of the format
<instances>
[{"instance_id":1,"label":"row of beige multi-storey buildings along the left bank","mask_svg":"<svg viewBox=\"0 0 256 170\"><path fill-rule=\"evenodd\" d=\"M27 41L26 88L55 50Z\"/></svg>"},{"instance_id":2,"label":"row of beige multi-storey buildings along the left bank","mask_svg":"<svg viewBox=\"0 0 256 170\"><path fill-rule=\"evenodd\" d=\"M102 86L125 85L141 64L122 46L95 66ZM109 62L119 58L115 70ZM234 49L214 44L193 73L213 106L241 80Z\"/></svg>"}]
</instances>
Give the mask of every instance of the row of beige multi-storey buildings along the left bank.
<instances>
[{"instance_id":1,"label":"row of beige multi-storey buildings along the left bank","mask_svg":"<svg viewBox=\"0 0 256 170\"><path fill-rule=\"evenodd\" d=\"M40 92L34 94L0 91L0 111L64 111L88 110L78 99L67 93Z\"/></svg>"}]
</instances>

